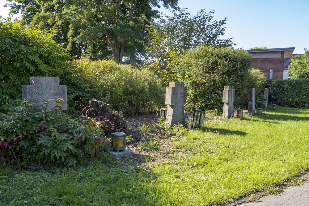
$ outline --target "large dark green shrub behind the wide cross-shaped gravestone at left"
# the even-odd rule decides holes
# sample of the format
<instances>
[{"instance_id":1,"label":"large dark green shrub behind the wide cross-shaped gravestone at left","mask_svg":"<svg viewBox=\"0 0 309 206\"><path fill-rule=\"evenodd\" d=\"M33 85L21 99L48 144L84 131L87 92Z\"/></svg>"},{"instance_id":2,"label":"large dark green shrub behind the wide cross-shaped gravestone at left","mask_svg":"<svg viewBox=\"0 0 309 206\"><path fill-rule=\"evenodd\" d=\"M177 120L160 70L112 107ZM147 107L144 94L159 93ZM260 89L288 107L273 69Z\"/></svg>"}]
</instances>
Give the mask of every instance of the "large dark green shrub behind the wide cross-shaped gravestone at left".
<instances>
[{"instance_id":1,"label":"large dark green shrub behind the wide cross-shaped gravestone at left","mask_svg":"<svg viewBox=\"0 0 309 206\"><path fill-rule=\"evenodd\" d=\"M60 77L67 85L68 110L71 116L91 99L92 90L79 77L80 69L70 62L70 55L52 39L53 32L21 27L18 23L0 21L0 112L8 112L21 99L22 85L31 76Z\"/></svg>"}]
</instances>

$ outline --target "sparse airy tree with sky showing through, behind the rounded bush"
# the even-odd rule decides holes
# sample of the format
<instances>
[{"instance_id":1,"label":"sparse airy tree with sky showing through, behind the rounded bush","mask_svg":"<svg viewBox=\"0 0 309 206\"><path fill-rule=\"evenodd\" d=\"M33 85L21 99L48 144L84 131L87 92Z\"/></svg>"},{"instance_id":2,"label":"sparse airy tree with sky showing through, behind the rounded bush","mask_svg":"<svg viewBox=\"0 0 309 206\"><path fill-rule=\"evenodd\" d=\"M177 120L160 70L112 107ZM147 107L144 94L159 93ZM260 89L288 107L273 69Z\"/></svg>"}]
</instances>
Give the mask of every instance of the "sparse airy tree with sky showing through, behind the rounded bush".
<instances>
[{"instance_id":1,"label":"sparse airy tree with sky showing through, behind the rounded bush","mask_svg":"<svg viewBox=\"0 0 309 206\"><path fill-rule=\"evenodd\" d=\"M229 47L235 45L233 37L220 39L224 35L226 18L213 20L214 11L198 11L190 14L186 9L173 10L173 15L160 14L159 21L153 22L147 29L145 65L163 79L165 86L175 81L168 66L173 58L188 49L204 44L211 47Z\"/></svg>"}]
</instances>

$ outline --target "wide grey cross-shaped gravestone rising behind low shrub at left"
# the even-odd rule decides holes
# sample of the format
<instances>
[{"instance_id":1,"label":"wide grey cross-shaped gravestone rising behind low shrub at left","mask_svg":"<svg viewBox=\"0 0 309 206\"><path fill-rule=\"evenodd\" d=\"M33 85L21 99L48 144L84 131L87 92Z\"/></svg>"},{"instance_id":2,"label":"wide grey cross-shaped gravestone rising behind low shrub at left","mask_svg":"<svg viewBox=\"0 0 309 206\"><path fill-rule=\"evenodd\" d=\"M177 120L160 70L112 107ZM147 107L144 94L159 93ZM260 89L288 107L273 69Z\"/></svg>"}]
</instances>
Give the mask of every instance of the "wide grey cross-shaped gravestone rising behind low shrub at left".
<instances>
[{"instance_id":1,"label":"wide grey cross-shaped gravestone rising behind low shrub at left","mask_svg":"<svg viewBox=\"0 0 309 206\"><path fill-rule=\"evenodd\" d=\"M22 85L22 99L28 99L39 103L47 100L48 109L56 105L55 100L63 98L60 106L67 109L66 85L59 85L59 77L30 77L30 85Z\"/></svg>"}]
</instances>

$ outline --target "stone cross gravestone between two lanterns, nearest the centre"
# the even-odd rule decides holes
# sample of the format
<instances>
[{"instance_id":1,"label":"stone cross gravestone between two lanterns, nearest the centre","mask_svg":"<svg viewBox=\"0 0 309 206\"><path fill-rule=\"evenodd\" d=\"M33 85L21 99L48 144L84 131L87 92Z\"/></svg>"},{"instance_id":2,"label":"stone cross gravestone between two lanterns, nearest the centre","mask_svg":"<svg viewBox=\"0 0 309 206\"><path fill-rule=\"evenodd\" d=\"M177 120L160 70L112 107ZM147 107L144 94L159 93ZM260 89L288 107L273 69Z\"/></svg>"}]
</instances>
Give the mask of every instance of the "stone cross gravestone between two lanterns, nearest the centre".
<instances>
[{"instance_id":1,"label":"stone cross gravestone between two lanterns, nearest the centre","mask_svg":"<svg viewBox=\"0 0 309 206\"><path fill-rule=\"evenodd\" d=\"M168 104L166 121L170 126L182 124L184 119L184 104L186 103L187 87L184 82L169 82L166 87L165 103Z\"/></svg>"}]
</instances>

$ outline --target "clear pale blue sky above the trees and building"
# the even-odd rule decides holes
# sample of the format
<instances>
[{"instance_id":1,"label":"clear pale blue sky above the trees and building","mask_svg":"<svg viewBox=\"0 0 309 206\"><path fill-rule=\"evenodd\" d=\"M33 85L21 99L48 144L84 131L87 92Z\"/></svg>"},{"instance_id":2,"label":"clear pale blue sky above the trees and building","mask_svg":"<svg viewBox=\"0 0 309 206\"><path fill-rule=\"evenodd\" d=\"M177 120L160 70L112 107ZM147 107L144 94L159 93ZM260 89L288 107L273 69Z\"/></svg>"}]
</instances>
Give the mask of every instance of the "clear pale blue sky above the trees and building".
<instances>
[{"instance_id":1,"label":"clear pale blue sky above the trees and building","mask_svg":"<svg viewBox=\"0 0 309 206\"><path fill-rule=\"evenodd\" d=\"M2 17L8 14L5 3L0 0ZM295 47L294 53L309 49L309 0L179 0L179 6L193 15L205 9L214 10L215 20L226 17L223 38L234 36L235 48Z\"/></svg>"}]
</instances>

